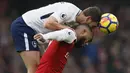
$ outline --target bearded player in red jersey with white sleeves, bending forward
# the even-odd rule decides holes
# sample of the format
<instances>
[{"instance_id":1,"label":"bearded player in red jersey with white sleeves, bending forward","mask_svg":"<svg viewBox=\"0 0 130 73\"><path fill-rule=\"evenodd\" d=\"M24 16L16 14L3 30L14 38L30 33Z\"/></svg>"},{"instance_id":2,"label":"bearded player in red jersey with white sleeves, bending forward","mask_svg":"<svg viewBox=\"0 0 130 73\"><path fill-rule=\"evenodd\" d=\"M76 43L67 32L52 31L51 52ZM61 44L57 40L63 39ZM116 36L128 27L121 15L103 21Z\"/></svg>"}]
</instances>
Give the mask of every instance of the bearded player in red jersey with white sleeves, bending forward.
<instances>
[{"instance_id":1,"label":"bearded player in red jersey with white sleeves, bending forward","mask_svg":"<svg viewBox=\"0 0 130 73\"><path fill-rule=\"evenodd\" d=\"M92 38L93 34L87 25L78 25L74 30L66 28L47 34L36 34L34 39L37 41L50 41L36 73L62 73L73 47L81 47Z\"/></svg>"}]
</instances>

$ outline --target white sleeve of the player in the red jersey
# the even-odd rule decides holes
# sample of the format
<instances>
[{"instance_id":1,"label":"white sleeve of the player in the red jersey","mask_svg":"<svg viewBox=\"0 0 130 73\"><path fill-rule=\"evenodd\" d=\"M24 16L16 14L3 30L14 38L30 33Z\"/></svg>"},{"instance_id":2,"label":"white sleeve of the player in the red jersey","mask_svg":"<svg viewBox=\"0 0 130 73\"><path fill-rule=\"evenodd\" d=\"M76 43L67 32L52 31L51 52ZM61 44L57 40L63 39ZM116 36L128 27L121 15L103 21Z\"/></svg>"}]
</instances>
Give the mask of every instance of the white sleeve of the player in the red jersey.
<instances>
[{"instance_id":1,"label":"white sleeve of the player in the red jersey","mask_svg":"<svg viewBox=\"0 0 130 73\"><path fill-rule=\"evenodd\" d=\"M42 34L42 36L45 40L64 41L66 43L72 43L77 39L75 32L68 28Z\"/></svg>"}]
</instances>

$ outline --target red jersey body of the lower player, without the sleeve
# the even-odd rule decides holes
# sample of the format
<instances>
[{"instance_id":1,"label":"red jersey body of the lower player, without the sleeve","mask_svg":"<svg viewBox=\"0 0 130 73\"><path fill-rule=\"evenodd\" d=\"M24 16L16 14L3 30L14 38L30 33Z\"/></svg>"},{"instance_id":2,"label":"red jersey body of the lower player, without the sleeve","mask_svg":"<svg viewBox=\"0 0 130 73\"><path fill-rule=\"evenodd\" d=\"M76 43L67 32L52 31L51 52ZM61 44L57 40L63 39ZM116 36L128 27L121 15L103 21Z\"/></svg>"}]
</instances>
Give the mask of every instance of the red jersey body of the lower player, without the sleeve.
<instances>
[{"instance_id":1,"label":"red jersey body of the lower player, without the sleeve","mask_svg":"<svg viewBox=\"0 0 130 73\"><path fill-rule=\"evenodd\" d=\"M43 54L36 73L62 73L74 43L53 40Z\"/></svg>"}]
</instances>

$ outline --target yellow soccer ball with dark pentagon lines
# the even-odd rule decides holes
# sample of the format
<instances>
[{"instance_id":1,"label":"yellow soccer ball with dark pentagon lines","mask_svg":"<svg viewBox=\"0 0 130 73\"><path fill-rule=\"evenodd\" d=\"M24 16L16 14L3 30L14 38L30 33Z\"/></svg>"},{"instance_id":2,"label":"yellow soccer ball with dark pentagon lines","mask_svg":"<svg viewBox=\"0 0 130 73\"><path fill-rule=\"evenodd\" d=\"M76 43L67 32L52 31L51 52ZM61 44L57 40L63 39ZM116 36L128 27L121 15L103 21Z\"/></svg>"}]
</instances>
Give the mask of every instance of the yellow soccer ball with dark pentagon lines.
<instances>
[{"instance_id":1,"label":"yellow soccer ball with dark pentagon lines","mask_svg":"<svg viewBox=\"0 0 130 73\"><path fill-rule=\"evenodd\" d=\"M101 16L99 29L105 34L112 33L117 30L119 26L118 19L111 13L105 13Z\"/></svg>"}]
</instances>

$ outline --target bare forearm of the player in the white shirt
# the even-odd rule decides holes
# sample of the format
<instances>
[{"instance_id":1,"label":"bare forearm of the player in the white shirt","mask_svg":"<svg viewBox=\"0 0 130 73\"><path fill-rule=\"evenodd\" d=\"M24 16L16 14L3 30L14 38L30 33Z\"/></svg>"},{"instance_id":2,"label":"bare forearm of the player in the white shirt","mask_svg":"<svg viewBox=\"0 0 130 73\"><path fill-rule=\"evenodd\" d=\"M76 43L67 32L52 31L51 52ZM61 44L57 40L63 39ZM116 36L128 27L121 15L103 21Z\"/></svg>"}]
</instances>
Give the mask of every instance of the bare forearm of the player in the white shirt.
<instances>
[{"instance_id":1,"label":"bare forearm of the player in the white shirt","mask_svg":"<svg viewBox=\"0 0 130 73\"><path fill-rule=\"evenodd\" d=\"M60 29L64 29L64 28L69 28L68 26L59 24L57 22L48 23L44 27L47 29L50 29L50 30L60 30Z\"/></svg>"}]
</instances>

